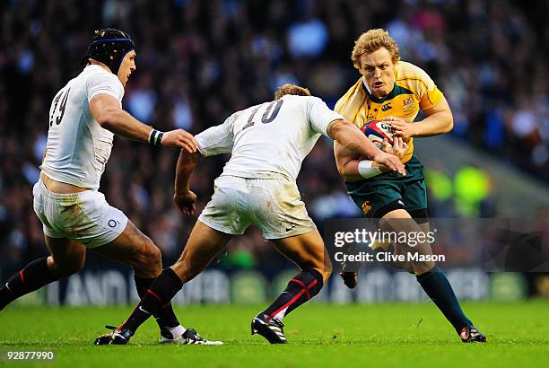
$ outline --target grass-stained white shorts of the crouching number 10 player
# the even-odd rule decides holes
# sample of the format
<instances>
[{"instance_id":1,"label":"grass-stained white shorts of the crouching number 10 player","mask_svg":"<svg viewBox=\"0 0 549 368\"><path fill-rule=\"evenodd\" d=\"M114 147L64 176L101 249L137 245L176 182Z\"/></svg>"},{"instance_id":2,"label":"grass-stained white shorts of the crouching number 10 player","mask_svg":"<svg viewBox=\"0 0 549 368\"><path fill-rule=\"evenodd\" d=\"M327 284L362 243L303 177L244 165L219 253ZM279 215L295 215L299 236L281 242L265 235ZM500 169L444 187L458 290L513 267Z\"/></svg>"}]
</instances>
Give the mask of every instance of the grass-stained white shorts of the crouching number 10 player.
<instances>
[{"instance_id":1,"label":"grass-stained white shorts of the crouching number 10 player","mask_svg":"<svg viewBox=\"0 0 549 368\"><path fill-rule=\"evenodd\" d=\"M219 232L240 235L254 223L265 239L282 239L317 228L293 181L222 176L213 183L198 220Z\"/></svg>"}]
</instances>

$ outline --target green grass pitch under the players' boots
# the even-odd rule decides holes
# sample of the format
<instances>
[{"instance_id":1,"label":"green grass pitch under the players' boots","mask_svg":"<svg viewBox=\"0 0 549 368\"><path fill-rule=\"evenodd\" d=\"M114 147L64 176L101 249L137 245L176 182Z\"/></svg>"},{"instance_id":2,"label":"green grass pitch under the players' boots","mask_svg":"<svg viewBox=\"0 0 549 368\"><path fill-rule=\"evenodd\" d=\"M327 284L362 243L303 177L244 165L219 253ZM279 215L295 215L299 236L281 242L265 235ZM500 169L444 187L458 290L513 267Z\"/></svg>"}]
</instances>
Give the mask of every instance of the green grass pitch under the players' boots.
<instances>
[{"instance_id":1,"label":"green grass pitch under the players' boots","mask_svg":"<svg viewBox=\"0 0 549 368\"><path fill-rule=\"evenodd\" d=\"M11 307L0 312L0 350L54 350L54 362L33 366L483 366L549 365L549 301L465 303L487 344L462 344L434 305L311 304L284 322L289 344L269 346L249 335L259 307L187 306L180 320L224 346L160 346L153 320L129 346L92 346L105 324L123 321L130 307ZM4 360L5 362L5 360ZM0 366L4 363L0 363ZM25 366L25 363L11 363Z\"/></svg>"}]
</instances>

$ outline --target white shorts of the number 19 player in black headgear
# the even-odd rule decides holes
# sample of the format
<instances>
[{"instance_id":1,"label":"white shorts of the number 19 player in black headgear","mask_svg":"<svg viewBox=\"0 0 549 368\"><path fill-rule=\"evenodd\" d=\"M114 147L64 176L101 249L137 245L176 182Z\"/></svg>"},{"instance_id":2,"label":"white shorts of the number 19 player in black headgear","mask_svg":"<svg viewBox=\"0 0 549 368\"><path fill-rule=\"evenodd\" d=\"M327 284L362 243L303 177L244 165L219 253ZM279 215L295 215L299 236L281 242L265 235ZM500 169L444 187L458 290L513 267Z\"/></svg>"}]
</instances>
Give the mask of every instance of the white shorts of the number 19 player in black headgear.
<instances>
[{"instance_id":1,"label":"white shorts of the number 19 player in black headgear","mask_svg":"<svg viewBox=\"0 0 549 368\"><path fill-rule=\"evenodd\" d=\"M114 241L126 229L126 215L109 206L105 196L96 190L58 194L39 180L32 195L34 212L50 238L68 238L96 248Z\"/></svg>"}]
</instances>

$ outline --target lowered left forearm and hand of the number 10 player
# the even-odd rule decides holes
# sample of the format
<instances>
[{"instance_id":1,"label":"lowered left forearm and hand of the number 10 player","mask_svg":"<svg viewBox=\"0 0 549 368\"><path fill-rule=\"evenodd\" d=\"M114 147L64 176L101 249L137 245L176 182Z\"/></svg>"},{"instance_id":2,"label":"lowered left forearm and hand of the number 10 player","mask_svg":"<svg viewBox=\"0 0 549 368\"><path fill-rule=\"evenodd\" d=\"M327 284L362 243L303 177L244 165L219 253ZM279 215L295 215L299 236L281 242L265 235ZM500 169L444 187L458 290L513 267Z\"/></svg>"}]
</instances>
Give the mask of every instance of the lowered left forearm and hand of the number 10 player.
<instances>
[{"instance_id":1,"label":"lowered left forearm and hand of the number 10 player","mask_svg":"<svg viewBox=\"0 0 549 368\"><path fill-rule=\"evenodd\" d=\"M184 150L179 153L173 201L178 205L183 215L193 215L195 213L196 194L190 189L190 177L195 170L199 154L187 153Z\"/></svg>"}]
</instances>

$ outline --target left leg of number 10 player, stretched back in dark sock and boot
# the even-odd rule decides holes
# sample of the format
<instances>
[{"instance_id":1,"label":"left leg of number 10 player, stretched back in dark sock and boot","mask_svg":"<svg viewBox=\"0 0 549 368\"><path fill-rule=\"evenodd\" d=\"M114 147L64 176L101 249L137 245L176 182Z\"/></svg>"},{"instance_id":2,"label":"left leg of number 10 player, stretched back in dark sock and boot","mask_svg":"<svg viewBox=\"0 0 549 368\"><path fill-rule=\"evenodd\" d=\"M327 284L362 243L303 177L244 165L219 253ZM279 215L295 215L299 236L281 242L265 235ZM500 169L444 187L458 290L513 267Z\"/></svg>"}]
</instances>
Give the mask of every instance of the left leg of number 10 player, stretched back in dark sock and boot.
<instances>
[{"instance_id":1,"label":"left leg of number 10 player, stretched back in dark sock and boot","mask_svg":"<svg viewBox=\"0 0 549 368\"><path fill-rule=\"evenodd\" d=\"M213 230L204 223L197 221L193 228L185 250L181 257L172 267L165 268L158 276L151 287L144 293L135 310L128 317L117 331L111 336L108 344L126 344L135 331L145 320L157 311L170 304L171 298L183 287L183 284L194 278L207 267L216 254L222 250L232 235ZM219 342L209 342L196 334L193 337L194 344L219 345ZM96 339L96 345L103 345L106 342Z\"/></svg>"}]
</instances>

